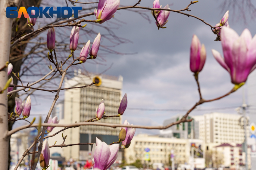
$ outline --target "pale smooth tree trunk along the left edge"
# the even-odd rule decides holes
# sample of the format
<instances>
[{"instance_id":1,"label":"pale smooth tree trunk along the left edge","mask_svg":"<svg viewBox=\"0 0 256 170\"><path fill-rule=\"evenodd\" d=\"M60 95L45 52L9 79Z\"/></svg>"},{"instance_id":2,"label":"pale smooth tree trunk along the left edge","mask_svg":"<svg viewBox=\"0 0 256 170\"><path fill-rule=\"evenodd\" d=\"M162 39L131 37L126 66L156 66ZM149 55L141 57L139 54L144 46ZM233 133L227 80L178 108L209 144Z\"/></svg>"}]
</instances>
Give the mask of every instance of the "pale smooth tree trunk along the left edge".
<instances>
[{"instance_id":1,"label":"pale smooth tree trunk along the left edge","mask_svg":"<svg viewBox=\"0 0 256 170\"><path fill-rule=\"evenodd\" d=\"M11 0L0 1L0 64L1 67L9 61L10 55L10 40L11 40L11 25L12 19L6 17L6 7L14 6ZM0 72L0 87L3 88L8 80L7 68ZM7 90L0 94L0 170L8 169L8 153L9 153L9 139L6 137L8 132L8 99Z\"/></svg>"}]
</instances>

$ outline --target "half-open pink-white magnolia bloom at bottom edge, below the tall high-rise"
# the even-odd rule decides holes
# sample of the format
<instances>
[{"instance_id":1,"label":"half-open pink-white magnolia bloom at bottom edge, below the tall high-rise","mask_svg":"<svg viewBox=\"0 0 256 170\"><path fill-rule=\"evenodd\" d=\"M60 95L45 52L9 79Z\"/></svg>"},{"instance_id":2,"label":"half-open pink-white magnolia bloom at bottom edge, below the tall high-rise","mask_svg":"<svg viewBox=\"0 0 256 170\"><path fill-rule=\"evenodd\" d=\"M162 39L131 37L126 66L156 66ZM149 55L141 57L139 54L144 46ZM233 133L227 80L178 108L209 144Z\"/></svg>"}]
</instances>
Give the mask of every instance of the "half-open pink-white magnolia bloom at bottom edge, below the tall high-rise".
<instances>
[{"instance_id":1,"label":"half-open pink-white magnolia bloom at bottom edge, below the tall high-rise","mask_svg":"<svg viewBox=\"0 0 256 170\"><path fill-rule=\"evenodd\" d=\"M106 170L117 159L119 144L108 145L96 137L96 144L92 147L93 168Z\"/></svg>"}]
</instances>

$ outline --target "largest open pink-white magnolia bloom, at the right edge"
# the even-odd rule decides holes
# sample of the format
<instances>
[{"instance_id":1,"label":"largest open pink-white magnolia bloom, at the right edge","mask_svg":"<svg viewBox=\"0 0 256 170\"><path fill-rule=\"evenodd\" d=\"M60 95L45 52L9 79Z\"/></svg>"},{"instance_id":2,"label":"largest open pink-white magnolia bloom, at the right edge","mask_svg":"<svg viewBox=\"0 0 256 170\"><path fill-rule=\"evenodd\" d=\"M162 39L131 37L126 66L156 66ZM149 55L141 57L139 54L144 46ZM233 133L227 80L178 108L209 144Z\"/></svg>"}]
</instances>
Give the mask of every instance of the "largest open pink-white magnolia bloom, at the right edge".
<instances>
[{"instance_id":1,"label":"largest open pink-white magnolia bloom, at the right edge","mask_svg":"<svg viewBox=\"0 0 256 170\"><path fill-rule=\"evenodd\" d=\"M224 58L212 49L214 58L229 72L233 84L246 82L248 75L256 68L256 36L252 38L246 28L239 37L233 29L223 27L220 37Z\"/></svg>"}]
</instances>

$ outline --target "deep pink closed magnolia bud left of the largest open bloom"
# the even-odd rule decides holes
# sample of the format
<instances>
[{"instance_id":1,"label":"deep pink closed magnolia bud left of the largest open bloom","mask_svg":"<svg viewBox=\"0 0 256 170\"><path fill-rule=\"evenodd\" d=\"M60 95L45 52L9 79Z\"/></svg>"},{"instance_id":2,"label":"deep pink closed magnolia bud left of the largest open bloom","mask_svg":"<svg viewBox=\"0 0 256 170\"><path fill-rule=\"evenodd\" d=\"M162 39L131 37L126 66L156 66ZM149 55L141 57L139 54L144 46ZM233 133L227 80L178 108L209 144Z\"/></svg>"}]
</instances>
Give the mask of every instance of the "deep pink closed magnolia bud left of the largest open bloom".
<instances>
[{"instance_id":1,"label":"deep pink closed magnolia bud left of the largest open bloom","mask_svg":"<svg viewBox=\"0 0 256 170\"><path fill-rule=\"evenodd\" d=\"M190 46L190 70L194 73L200 72L204 67L206 59L206 50L204 44L200 43L200 40L196 35L193 35Z\"/></svg>"}]
</instances>

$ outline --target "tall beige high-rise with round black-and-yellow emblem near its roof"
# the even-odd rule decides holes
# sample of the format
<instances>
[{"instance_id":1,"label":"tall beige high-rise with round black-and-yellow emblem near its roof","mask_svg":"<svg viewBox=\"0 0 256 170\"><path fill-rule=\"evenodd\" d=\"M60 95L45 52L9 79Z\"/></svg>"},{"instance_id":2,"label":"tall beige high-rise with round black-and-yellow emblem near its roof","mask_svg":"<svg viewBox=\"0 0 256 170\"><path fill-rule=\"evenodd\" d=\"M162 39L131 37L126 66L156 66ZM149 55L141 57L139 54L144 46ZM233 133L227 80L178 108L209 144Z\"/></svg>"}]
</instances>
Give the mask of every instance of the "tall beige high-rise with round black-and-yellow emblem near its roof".
<instances>
[{"instance_id":1,"label":"tall beige high-rise with round black-and-yellow emblem near its roof","mask_svg":"<svg viewBox=\"0 0 256 170\"><path fill-rule=\"evenodd\" d=\"M97 80L94 80L95 78ZM72 79L65 79L64 86L65 88L79 87L89 85L93 81L99 82L99 84L84 88L65 90L64 116L60 119L59 123L71 124L95 118L96 107L98 107L101 99L104 99L105 115L118 114L117 111L122 98L122 76L101 75L89 77L81 74L81 71L79 70L78 73L75 72L75 76ZM101 119L99 122L121 124L122 120L120 116ZM62 127L55 127L49 135L56 133L61 129ZM107 144L110 144L118 141L119 132L120 128L80 126L63 131L63 135L67 135L65 144L95 143L96 137ZM53 145L55 141L57 141L56 145L63 142L61 133L48 139L49 145ZM75 145L64 148L56 147L51 148L51 155L53 153L59 153L62 157L65 157L66 161L70 158L74 161L84 161L91 158L91 148L90 145ZM122 160L121 151L117 160Z\"/></svg>"}]
</instances>

